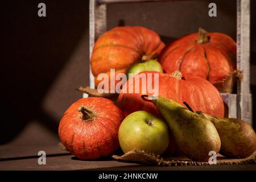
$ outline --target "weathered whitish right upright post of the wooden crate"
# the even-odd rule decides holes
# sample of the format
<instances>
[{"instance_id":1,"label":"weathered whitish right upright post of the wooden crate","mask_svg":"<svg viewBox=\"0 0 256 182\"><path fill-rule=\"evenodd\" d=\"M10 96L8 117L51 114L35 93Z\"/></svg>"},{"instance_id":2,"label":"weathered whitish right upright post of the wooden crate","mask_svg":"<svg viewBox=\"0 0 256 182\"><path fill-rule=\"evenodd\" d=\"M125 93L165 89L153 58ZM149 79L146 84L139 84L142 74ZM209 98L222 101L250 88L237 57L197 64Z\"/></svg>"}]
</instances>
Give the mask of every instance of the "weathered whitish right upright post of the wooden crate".
<instances>
[{"instance_id":1,"label":"weathered whitish right upright post of the wooden crate","mask_svg":"<svg viewBox=\"0 0 256 182\"><path fill-rule=\"evenodd\" d=\"M237 0L237 69L243 72L237 84L237 117L251 124L250 0Z\"/></svg>"}]
</instances>

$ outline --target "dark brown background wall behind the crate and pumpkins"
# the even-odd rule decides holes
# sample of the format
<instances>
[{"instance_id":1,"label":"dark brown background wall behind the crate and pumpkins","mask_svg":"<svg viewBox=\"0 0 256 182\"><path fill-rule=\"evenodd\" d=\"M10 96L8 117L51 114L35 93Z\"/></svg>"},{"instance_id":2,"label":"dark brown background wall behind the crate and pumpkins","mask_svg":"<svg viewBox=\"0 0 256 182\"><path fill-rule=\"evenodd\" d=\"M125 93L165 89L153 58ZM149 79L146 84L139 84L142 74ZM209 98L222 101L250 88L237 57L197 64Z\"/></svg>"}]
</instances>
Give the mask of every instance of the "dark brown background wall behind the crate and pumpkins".
<instances>
[{"instance_id":1,"label":"dark brown background wall behind the crate and pumpkins","mask_svg":"<svg viewBox=\"0 0 256 182\"><path fill-rule=\"evenodd\" d=\"M38 17L38 3L47 17ZM217 3L217 17L208 4ZM2 20L0 144L56 144L64 110L89 85L89 1L9 1ZM256 2L251 1L251 92L256 97ZM236 39L236 0L175 1L108 6L108 29L118 25L151 28L170 42L203 27ZM255 110L255 109L254 109ZM254 128L256 116L254 115Z\"/></svg>"}]
</instances>

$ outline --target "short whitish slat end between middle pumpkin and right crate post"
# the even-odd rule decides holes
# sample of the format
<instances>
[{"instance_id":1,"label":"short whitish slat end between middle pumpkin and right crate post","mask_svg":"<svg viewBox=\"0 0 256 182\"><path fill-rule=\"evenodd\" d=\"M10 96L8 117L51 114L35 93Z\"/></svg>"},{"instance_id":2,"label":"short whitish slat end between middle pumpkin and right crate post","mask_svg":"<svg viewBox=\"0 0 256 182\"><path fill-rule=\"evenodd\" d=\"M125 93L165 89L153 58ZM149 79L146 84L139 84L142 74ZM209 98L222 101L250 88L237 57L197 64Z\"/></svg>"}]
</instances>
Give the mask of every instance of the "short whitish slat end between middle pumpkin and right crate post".
<instances>
[{"instance_id":1,"label":"short whitish slat end between middle pumpkin and right crate post","mask_svg":"<svg viewBox=\"0 0 256 182\"><path fill-rule=\"evenodd\" d=\"M237 94L221 93L221 96L228 106L228 117L237 118Z\"/></svg>"}]
</instances>

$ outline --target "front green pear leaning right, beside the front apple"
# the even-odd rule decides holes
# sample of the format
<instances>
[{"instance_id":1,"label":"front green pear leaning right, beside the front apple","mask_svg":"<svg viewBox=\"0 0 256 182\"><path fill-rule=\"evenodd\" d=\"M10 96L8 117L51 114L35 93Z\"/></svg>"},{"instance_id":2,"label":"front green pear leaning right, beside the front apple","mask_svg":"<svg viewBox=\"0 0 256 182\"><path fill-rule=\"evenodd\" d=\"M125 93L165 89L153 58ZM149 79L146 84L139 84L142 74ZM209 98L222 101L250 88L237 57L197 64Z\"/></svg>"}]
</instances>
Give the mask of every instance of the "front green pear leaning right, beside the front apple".
<instances>
[{"instance_id":1,"label":"front green pear leaning right, beside the front apple","mask_svg":"<svg viewBox=\"0 0 256 182\"><path fill-rule=\"evenodd\" d=\"M143 95L143 100L145 97L152 96ZM208 162L210 151L220 151L221 140L210 119L162 96L151 101L166 120L179 150L189 159Z\"/></svg>"}]
</instances>

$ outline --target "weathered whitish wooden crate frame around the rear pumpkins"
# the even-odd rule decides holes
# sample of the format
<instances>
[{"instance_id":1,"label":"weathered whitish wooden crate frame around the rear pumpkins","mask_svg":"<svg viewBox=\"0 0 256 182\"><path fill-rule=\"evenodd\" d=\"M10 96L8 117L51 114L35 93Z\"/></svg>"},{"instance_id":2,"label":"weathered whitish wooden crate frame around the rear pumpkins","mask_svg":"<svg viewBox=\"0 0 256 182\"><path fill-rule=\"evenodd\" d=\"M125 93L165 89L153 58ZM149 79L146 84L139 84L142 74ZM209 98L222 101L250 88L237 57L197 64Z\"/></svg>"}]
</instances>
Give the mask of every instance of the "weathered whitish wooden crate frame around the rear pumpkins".
<instances>
[{"instance_id":1,"label":"weathered whitish wooden crate frame around the rear pumpkins","mask_svg":"<svg viewBox=\"0 0 256 182\"><path fill-rule=\"evenodd\" d=\"M90 0L89 56L94 42L106 31L106 8L112 3L160 2L175 0ZM171 3L171 2L170 2ZM250 94L250 0L237 0L237 69L243 72L237 83L237 94L221 93L230 118L241 118L252 124ZM94 76L90 69L90 88L94 88ZM86 94L83 97L87 97Z\"/></svg>"}]
</instances>

